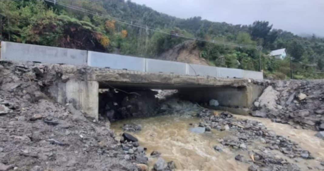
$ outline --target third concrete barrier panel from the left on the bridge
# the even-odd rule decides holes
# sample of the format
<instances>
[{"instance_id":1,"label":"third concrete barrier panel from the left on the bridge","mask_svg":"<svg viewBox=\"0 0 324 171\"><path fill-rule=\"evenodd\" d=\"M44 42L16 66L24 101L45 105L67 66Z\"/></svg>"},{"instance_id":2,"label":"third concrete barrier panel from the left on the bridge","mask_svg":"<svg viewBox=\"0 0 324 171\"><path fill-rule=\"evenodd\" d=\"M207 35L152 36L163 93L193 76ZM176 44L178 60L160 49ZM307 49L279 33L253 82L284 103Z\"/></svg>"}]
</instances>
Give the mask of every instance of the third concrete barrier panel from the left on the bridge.
<instances>
[{"instance_id":1,"label":"third concrete barrier panel from the left on the bridge","mask_svg":"<svg viewBox=\"0 0 324 171\"><path fill-rule=\"evenodd\" d=\"M145 59L146 61L146 72L151 73L164 73L164 74L187 74L187 64L182 62L163 61L156 59Z\"/></svg>"}]
</instances>

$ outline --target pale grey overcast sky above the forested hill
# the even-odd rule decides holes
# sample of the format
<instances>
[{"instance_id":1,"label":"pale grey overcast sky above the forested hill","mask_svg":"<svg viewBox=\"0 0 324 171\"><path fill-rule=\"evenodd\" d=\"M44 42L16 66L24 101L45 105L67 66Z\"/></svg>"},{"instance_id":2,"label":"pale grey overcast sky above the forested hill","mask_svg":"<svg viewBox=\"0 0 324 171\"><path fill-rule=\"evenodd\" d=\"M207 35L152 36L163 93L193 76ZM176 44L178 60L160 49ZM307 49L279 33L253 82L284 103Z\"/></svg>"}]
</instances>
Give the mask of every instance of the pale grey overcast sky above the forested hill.
<instances>
[{"instance_id":1,"label":"pale grey overcast sky above the forested hill","mask_svg":"<svg viewBox=\"0 0 324 171\"><path fill-rule=\"evenodd\" d=\"M179 18L201 16L217 22L252 24L324 36L324 0L132 0Z\"/></svg>"}]
</instances>

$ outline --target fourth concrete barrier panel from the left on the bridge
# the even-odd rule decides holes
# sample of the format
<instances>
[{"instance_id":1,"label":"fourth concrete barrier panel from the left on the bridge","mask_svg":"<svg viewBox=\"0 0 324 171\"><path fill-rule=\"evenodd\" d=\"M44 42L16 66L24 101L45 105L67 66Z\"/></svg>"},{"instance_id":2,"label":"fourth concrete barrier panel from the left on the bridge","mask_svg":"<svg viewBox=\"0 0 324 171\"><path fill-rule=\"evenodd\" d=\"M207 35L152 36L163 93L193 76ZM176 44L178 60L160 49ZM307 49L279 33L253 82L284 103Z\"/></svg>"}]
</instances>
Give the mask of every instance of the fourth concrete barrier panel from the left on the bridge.
<instances>
[{"instance_id":1,"label":"fourth concrete barrier panel from the left on the bridge","mask_svg":"<svg viewBox=\"0 0 324 171\"><path fill-rule=\"evenodd\" d=\"M204 65L187 64L188 75L218 77L218 68Z\"/></svg>"}]
</instances>

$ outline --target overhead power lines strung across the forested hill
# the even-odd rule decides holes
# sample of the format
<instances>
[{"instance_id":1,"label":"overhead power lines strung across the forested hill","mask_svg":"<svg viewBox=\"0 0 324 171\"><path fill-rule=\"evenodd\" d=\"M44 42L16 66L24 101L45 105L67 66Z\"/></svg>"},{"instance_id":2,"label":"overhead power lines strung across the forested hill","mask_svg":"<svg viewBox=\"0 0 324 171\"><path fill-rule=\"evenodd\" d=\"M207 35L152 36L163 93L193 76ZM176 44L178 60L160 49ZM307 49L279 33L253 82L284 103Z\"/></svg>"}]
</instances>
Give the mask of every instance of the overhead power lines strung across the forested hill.
<instances>
[{"instance_id":1,"label":"overhead power lines strung across the forested hill","mask_svg":"<svg viewBox=\"0 0 324 171\"><path fill-rule=\"evenodd\" d=\"M71 5L62 3L62 2L58 2L57 0L56 1L54 1L54 0L44 0L44 1L51 2L53 4L55 3L54 5L65 6L65 7L68 7L68 8L77 10L77 11L85 12L85 13L88 13L88 14L91 14L91 15L98 15L98 16L101 16L101 17L104 17L104 18L111 18L111 19L116 20L117 22L127 24L127 25L130 25L130 26L134 26L134 27L138 27L138 28L142 28L142 29L148 29L148 30L151 30L151 31L160 32L160 33L164 33L164 34L169 34L169 35L173 35L173 36L177 36L177 37L181 37L181 38L186 38L186 39L191 39L191 40L196 40L196 41L202 41L202 42L207 42L207 43L223 44L223 45L233 46L233 47L255 48L255 46L253 46L253 45L242 45L242 44L235 44L235 43L223 43L223 42L218 42L218 41L215 41L215 40L210 41L210 40L202 39L202 38L188 37L188 36L184 36L184 35L181 35L181 34L178 34L178 33L162 31L162 30L159 30L159 29L156 29L156 28L153 28L153 27L148 27L148 26L142 25L142 24L134 24L132 21L129 22L127 20L123 20L123 19L120 19L120 18L115 18L115 17L112 17L110 15L99 14L98 12L93 12L93 11L90 11L90 10L87 10L87 9L84 9L84 8L80 8L80 7L77 7L77 6L71 6Z\"/></svg>"}]
</instances>

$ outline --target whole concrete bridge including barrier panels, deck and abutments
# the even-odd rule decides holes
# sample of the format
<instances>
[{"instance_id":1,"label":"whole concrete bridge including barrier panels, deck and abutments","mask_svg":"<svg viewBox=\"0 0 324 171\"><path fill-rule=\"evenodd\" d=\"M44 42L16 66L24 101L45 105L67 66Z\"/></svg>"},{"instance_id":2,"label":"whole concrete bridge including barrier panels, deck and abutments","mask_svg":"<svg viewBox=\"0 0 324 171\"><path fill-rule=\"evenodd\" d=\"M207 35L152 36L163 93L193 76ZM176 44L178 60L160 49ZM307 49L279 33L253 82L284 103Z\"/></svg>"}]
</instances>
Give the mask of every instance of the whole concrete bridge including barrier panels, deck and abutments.
<instances>
[{"instance_id":1,"label":"whole concrete bridge including barrier panels, deck and abutments","mask_svg":"<svg viewBox=\"0 0 324 171\"><path fill-rule=\"evenodd\" d=\"M75 108L98 118L98 90L177 89L188 100L221 106L249 108L263 91L261 72L234 68L209 67L180 62L104 54L75 49L1 43L1 60L72 64L81 68L64 71L49 88L61 104L72 102Z\"/></svg>"}]
</instances>

